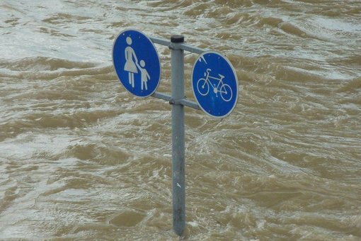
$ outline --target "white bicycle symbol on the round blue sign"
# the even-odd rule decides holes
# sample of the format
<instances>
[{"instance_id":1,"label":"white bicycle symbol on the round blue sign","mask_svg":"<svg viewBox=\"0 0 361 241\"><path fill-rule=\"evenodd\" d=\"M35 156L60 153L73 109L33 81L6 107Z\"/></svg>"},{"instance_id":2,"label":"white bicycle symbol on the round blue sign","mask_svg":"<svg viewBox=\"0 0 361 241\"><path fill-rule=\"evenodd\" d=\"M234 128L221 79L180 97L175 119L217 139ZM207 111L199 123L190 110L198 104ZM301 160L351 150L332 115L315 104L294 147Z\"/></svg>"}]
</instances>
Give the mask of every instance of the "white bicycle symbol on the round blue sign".
<instances>
[{"instance_id":1,"label":"white bicycle symbol on the round blue sign","mask_svg":"<svg viewBox=\"0 0 361 241\"><path fill-rule=\"evenodd\" d=\"M206 96L210 91L210 86L213 88L214 94L218 97L218 93L220 93L222 99L224 101L230 101L232 99L232 89L228 84L223 83L224 76L222 74L218 74L219 78L210 76L210 72L212 69L207 69L205 72L205 78L200 78L197 81L197 91L202 95ZM218 84L212 85L210 79L218 80Z\"/></svg>"}]
</instances>

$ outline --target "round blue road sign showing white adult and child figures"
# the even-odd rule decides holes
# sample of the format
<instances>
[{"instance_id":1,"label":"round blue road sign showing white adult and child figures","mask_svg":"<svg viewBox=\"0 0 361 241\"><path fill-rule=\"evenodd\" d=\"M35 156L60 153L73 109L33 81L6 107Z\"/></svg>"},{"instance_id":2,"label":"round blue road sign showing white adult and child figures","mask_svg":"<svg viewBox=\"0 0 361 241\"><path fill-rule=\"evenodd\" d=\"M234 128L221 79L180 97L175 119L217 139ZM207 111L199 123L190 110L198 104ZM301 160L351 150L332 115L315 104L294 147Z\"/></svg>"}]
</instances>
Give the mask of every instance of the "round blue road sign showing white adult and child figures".
<instances>
[{"instance_id":1,"label":"round blue road sign showing white adult and child figures","mask_svg":"<svg viewBox=\"0 0 361 241\"><path fill-rule=\"evenodd\" d=\"M159 86L158 52L151 40L137 30L124 30L115 39L113 66L120 83L135 96L151 96Z\"/></svg>"}]
</instances>

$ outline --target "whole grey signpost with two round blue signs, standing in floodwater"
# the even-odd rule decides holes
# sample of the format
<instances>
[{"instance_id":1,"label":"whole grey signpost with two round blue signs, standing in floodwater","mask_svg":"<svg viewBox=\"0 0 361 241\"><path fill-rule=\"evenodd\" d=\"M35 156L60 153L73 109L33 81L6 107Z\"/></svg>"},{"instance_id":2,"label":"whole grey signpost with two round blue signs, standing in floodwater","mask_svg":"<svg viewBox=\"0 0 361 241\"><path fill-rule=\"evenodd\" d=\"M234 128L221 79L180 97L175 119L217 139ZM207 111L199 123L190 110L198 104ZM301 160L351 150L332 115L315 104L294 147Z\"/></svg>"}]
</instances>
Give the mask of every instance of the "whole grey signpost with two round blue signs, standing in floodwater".
<instances>
[{"instance_id":1,"label":"whole grey signpost with two round blue signs, standing in floodwater","mask_svg":"<svg viewBox=\"0 0 361 241\"><path fill-rule=\"evenodd\" d=\"M171 49L171 95L156 92L161 80L161 63L153 43ZM197 103L185 99L184 51L200 55L191 77ZM172 106L173 230L182 235L185 228L184 106L201 109L215 118L228 116L238 99L234 67L217 52L185 45L183 35L173 35L168 41L148 38L137 30L124 30L115 38L113 66L120 83L131 94L164 99Z\"/></svg>"}]
</instances>

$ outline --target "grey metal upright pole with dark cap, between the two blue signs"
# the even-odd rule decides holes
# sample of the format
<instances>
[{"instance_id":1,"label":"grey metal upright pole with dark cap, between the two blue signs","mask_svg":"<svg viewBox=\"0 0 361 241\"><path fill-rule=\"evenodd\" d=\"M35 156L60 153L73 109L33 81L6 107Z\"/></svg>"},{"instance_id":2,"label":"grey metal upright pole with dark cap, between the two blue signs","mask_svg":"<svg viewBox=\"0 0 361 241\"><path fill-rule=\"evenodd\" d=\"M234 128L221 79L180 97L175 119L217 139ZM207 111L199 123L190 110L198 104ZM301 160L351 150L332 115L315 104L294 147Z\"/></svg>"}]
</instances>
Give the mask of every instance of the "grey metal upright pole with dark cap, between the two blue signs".
<instances>
[{"instance_id":1,"label":"grey metal upright pole with dark cap, between the two blue signs","mask_svg":"<svg viewBox=\"0 0 361 241\"><path fill-rule=\"evenodd\" d=\"M171 36L171 100L172 104L172 176L173 230L182 235L185 228L185 144L184 144L184 51L179 47L182 35Z\"/></svg>"}]
</instances>

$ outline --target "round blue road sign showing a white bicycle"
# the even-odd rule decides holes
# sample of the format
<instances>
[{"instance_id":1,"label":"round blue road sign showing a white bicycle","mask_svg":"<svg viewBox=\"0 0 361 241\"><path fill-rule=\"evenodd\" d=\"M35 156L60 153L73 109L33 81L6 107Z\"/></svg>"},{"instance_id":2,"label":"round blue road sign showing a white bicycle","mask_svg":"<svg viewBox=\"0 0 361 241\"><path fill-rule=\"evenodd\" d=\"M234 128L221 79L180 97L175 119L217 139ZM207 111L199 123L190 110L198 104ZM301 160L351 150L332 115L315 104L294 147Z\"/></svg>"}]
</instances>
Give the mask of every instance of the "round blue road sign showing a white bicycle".
<instances>
[{"instance_id":1,"label":"round blue road sign showing a white bicycle","mask_svg":"<svg viewBox=\"0 0 361 241\"><path fill-rule=\"evenodd\" d=\"M234 67L217 52L204 52L192 71L193 93L205 113L217 118L228 116L238 99L238 79Z\"/></svg>"}]
</instances>

